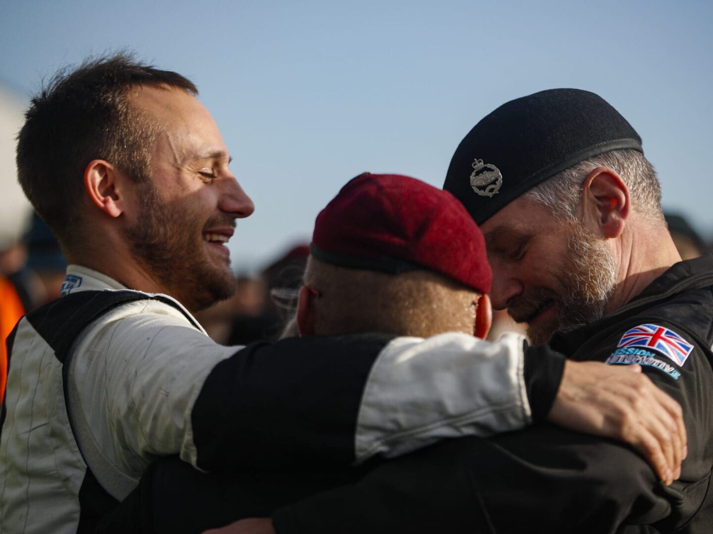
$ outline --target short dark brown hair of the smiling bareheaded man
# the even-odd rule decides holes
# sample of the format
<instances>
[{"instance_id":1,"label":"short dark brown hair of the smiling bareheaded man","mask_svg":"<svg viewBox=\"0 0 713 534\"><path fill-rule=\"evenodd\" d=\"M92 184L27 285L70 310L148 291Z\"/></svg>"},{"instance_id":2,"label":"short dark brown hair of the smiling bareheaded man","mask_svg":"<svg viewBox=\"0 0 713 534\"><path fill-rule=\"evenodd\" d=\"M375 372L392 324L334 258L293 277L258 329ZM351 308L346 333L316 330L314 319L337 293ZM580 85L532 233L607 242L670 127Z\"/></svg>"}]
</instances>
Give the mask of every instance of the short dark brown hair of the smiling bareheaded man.
<instances>
[{"instance_id":1,"label":"short dark brown hair of the smiling bareheaded man","mask_svg":"<svg viewBox=\"0 0 713 534\"><path fill-rule=\"evenodd\" d=\"M182 75L120 52L59 71L31 100L18 135L18 179L63 246L79 239L89 162L106 159L136 182L148 176L157 127L128 101L129 89L138 85L198 94Z\"/></svg>"}]
</instances>

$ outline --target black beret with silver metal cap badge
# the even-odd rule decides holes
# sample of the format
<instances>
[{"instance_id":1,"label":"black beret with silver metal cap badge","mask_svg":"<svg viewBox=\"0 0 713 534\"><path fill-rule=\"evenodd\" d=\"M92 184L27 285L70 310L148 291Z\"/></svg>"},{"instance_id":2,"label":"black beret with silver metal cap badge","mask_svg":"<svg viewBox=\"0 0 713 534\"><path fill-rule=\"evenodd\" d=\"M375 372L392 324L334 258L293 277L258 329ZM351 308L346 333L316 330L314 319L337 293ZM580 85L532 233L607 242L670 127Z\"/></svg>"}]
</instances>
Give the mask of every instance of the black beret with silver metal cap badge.
<instances>
[{"instance_id":1,"label":"black beret with silver metal cap badge","mask_svg":"<svg viewBox=\"0 0 713 534\"><path fill-rule=\"evenodd\" d=\"M603 98L550 89L484 117L453 154L443 189L482 224L543 180L611 150L643 152L641 138Z\"/></svg>"}]
</instances>

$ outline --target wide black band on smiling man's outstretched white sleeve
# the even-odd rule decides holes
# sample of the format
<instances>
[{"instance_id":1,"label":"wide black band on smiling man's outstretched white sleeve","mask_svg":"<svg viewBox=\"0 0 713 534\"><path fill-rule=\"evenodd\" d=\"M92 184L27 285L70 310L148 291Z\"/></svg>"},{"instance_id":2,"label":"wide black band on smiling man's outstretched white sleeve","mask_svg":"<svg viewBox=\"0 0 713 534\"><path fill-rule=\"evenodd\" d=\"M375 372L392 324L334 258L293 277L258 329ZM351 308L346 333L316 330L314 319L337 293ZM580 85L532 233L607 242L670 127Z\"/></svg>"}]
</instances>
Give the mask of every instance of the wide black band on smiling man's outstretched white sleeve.
<instances>
[{"instance_id":1,"label":"wide black band on smiling man's outstretched white sleeve","mask_svg":"<svg viewBox=\"0 0 713 534\"><path fill-rule=\"evenodd\" d=\"M393 335L293 337L220 362L192 412L198 466L348 466L366 379Z\"/></svg>"}]
</instances>

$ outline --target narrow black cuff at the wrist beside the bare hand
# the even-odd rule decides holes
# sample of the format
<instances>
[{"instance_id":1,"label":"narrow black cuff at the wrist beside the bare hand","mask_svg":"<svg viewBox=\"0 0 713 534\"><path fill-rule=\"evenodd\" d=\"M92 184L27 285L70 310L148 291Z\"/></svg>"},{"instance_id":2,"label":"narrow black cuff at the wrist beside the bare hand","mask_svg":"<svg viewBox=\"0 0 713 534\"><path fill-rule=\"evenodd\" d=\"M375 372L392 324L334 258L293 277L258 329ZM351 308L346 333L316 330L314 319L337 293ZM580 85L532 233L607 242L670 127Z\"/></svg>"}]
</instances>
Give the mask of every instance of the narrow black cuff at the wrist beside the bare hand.
<instances>
[{"instance_id":1,"label":"narrow black cuff at the wrist beside the bare hand","mask_svg":"<svg viewBox=\"0 0 713 534\"><path fill-rule=\"evenodd\" d=\"M562 375L565 357L546 345L528 346L525 343L525 387L528 392L533 421L544 421L550 413Z\"/></svg>"}]
</instances>

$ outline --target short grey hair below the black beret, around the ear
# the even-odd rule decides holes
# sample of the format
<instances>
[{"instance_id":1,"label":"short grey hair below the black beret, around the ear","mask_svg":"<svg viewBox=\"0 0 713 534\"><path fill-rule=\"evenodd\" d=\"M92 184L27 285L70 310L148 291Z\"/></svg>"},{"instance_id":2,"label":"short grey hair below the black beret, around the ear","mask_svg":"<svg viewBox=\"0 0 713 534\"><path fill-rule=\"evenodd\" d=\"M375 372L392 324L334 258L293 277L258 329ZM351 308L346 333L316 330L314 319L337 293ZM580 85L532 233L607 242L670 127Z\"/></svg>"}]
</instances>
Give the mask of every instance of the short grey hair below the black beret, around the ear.
<instances>
[{"instance_id":1,"label":"short grey hair below the black beret, around the ear","mask_svg":"<svg viewBox=\"0 0 713 534\"><path fill-rule=\"evenodd\" d=\"M620 174L629 188L632 209L654 224L665 224L661 184L653 165L637 150L614 150L585 159L533 187L524 197L544 204L557 219L576 221L585 178L597 167Z\"/></svg>"}]
</instances>

